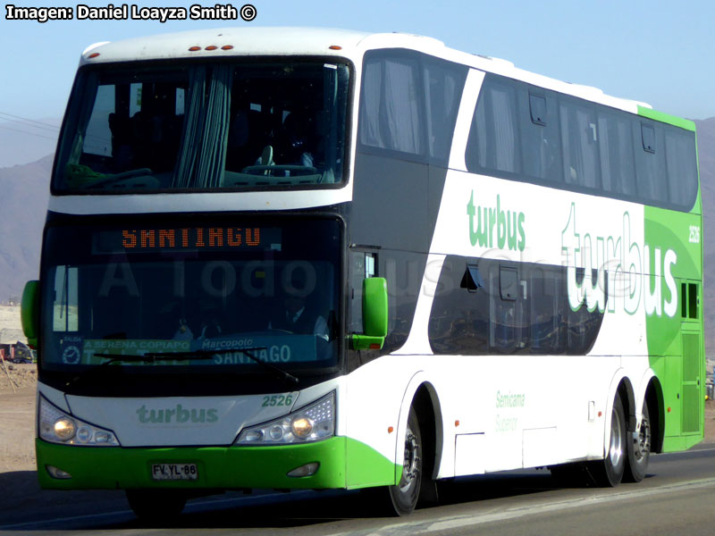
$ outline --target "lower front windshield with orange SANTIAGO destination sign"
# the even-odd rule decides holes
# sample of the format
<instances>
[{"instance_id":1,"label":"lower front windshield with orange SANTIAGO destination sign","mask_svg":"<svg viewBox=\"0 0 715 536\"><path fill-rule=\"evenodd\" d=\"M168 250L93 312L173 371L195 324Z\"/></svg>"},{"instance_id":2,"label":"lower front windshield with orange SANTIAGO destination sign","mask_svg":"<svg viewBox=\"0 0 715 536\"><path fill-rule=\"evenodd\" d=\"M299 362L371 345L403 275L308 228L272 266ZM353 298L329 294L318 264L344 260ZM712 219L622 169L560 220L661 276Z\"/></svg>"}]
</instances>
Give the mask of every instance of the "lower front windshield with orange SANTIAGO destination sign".
<instances>
[{"instance_id":1,"label":"lower front windshield with orange SANTIAGO destination sign","mask_svg":"<svg viewBox=\"0 0 715 536\"><path fill-rule=\"evenodd\" d=\"M105 369L266 373L259 360L299 375L332 367L340 239L334 220L51 227L41 368L71 373L112 361ZM138 359L147 355L161 358Z\"/></svg>"}]
</instances>

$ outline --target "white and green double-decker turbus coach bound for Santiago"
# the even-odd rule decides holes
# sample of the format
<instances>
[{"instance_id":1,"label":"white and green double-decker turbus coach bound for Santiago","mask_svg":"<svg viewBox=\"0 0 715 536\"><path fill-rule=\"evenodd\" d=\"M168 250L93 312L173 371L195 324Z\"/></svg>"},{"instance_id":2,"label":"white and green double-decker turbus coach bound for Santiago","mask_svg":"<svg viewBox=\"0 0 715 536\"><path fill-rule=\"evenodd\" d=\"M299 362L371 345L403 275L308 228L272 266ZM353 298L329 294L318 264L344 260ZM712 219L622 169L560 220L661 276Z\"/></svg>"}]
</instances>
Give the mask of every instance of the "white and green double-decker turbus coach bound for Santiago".
<instances>
[{"instance_id":1,"label":"white and green double-decker turbus coach bound for Santiago","mask_svg":"<svg viewBox=\"0 0 715 536\"><path fill-rule=\"evenodd\" d=\"M22 308L43 488L404 515L702 440L691 121L431 38L191 31L82 54L51 194Z\"/></svg>"}]
</instances>

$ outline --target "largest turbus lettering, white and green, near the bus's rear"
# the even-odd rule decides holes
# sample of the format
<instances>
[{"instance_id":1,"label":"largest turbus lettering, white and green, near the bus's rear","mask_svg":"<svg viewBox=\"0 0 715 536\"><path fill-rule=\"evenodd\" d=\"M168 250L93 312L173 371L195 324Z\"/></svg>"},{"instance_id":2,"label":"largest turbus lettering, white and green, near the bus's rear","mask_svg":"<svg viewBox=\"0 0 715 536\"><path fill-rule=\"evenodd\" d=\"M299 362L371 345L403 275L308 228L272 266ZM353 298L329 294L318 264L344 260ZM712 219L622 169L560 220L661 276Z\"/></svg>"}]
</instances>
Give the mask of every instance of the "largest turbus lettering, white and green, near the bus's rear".
<instances>
[{"instance_id":1,"label":"largest turbus lettering, white and green, near the bus's rear","mask_svg":"<svg viewBox=\"0 0 715 536\"><path fill-rule=\"evenodd\" d=\"M622 229L619 237L592 237L586 233L582 238L576 232L576 204L571 204L568 223L561 231L561 250L567 256L569 305L576 311L585 303L589 311L598 308L603 313L608 289L610 313L616 311L616 298L619 297L620 306L628 314L635 314L643 302L645 314L674 316L677 313L677 287L673 277L676 252L669 249L663 255L660 247L655 247L651 254L648 244L644 244L641 251L638 242L631 239L630 214L627 212L623 213ZM583 279L576 276L576 269L583 270ZM595 281L593 272L597 274ZM663 281L667 293L662 291Z\"/></svg>"}]
</instances>

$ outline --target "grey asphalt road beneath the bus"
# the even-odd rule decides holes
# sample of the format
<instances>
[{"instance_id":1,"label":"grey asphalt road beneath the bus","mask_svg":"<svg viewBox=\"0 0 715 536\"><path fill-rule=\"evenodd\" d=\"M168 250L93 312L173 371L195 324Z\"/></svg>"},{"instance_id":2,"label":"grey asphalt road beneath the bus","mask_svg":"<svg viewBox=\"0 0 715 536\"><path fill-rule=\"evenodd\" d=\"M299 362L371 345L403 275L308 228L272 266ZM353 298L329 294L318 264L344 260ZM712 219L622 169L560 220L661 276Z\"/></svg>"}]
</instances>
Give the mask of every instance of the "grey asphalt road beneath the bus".
<instances>
[{"instance_id":1,"label":"grey asphalt road beneath the bus","mask_svg":"<svg viewBox=\"0 0 715 536\"><path fill-rule=\"evenodd\" d=\"M439 507L421 508L406 518L373 517L358 492L230 493L189 501L184 514L171 523L147 527L134 518L120 491L66 492L59 502L51 494L41 504L5 512L0 532L711 536L713 492L715 448L703 445L685 453L652 456L644 482L615 489L559 487L548 471L459 479L441 488Z\"/></svg>"}]
</instances>

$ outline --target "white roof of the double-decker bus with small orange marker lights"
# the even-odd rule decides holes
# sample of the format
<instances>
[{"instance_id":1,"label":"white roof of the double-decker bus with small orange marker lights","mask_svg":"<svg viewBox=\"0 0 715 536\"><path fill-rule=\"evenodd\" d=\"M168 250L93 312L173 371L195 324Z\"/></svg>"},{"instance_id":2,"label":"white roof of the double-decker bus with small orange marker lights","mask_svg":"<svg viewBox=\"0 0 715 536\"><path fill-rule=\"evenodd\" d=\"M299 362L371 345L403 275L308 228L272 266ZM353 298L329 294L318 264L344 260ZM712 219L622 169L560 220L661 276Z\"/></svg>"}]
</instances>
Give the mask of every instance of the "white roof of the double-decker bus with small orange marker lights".
<instances>
[{"instance_id":1,"label":"white roof of the double-decker bus with small orange marker lights","mask_svg":"<svg viewBox=\"0 0 715 536\"><path fill-rule=\"evenodd\" d=\"M80 65L137 60L235 57L238 55L322 55L345 57L356 64L367 50L409 48L463 63L482 71L522 80L559 93L578 96L631 113L642 102L608 96L598 88L571 84L525 71L505 60L469 54L445 46L442 41L414 34L366 33L346 29L298 27L236 27L199 29L179 33L130 38L114 43L97 43L82 53Z\"/></svg>"}]
</instances>

